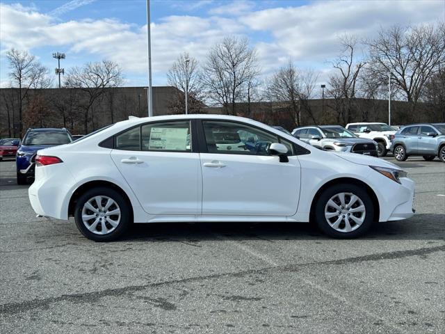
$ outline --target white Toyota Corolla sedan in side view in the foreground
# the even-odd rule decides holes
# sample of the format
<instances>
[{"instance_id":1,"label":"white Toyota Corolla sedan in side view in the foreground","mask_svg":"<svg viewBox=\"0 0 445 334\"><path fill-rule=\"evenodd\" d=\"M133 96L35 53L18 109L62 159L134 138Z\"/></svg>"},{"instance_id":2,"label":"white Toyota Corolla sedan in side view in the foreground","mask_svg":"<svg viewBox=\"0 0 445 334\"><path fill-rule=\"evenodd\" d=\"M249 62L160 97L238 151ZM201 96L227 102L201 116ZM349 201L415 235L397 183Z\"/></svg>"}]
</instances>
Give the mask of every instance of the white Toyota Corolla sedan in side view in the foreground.
<instances>
[{"instance_id":1,"label":"white Toyota Corolla sedan in side view in the foreground","mask_svg":"<svg viewBox=\"0 0 445 334\"><path fill-rule=\"evenodd\" d=\"M414 182L398 166L234 116L131 118L40 150L35 163L34 211L74 216L95 241L133 222L191 221L315 221L349 238L414 211Z\"/></svg>"}]
</instances>

